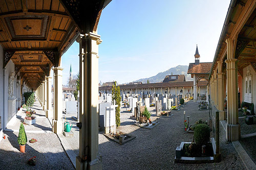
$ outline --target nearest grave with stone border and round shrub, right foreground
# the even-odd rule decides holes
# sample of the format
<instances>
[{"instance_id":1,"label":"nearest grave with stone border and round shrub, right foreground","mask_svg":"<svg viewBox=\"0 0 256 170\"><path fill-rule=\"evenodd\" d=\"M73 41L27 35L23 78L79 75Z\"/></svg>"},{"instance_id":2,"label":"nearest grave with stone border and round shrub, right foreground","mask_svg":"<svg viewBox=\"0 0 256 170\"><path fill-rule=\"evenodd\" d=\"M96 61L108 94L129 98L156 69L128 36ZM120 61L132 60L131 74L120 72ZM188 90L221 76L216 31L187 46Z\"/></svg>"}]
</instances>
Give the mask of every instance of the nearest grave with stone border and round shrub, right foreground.
<instances>
[{"instance_id":1,"label":"nearest grave with stone border and round shrub, right foreground","mask_svg":"<svg viewBox=\"0 0 256 170\"><path fill-rule=\"evenodd\" d=\"M216 109L217 110L217 109ZM185 113L184 113L185 116ZM199 120L194 125L192 142L181 142L176 148L176 163L214 163L221 161L219 144L219 112L212 112L212 134L207 123Z\"/></svg>"}]
</instances>

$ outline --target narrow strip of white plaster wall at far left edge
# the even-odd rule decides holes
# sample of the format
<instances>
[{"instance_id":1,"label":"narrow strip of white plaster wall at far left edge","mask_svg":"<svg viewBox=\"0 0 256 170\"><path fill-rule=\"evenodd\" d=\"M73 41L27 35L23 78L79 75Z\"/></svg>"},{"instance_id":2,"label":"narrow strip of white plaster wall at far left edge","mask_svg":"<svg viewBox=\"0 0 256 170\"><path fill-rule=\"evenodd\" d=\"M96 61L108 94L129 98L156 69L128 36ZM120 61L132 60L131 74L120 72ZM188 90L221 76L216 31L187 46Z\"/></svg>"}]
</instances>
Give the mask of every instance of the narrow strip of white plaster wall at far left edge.
<instances>
[{"instance_id":1,"label":"narrow strip of white plaster wall at far left edge","mask_svg":"<svg viewBox=\"0 0 256 170\"><path fill-rule=\"evenodd\" d=\"M4 89L3 89L3 63L4 63L4 50L3 47L0 45L0 115L1 115L1 127L3 128L3 113L4 113L4 100L3 100L3 93L4 93Z\"/></svg>"}]
</instances>

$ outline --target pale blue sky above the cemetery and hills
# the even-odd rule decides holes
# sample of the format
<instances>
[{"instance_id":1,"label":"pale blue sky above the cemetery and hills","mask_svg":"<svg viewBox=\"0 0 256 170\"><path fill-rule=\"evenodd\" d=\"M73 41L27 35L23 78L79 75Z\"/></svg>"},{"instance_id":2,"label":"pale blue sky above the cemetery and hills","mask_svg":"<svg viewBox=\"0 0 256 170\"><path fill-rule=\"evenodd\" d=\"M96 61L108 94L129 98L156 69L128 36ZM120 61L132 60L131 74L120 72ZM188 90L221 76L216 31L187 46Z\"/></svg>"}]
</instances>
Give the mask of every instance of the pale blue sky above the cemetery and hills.
<instances>
[{"instance_id":1,"label":"pale blue sky above the cemetery and hills","mask_svg":"<svg viewBox=\"0 0 256 170\"><path fill-rule=\"evenodd\" d=\"M177 65L212 62L229 0L113 0L98 24L99 81L125 83ZM79 71L77 42L62 56L63 84Z\"/></svg>"}]
</instances>

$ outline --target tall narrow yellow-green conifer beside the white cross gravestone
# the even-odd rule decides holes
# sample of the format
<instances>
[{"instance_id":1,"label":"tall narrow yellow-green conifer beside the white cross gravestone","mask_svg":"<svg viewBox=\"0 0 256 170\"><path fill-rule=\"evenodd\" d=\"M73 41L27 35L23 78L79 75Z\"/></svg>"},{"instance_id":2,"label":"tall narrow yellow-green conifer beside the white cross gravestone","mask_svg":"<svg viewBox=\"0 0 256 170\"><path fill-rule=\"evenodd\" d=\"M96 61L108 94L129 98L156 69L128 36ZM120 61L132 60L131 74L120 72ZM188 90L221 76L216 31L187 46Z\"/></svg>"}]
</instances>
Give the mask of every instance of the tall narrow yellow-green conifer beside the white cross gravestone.
<instances>
[{"instance_id":1,"label":"tall narrow yellow-green conifer beside the white cross gravestone","mask_svg":"<svg viewBox=\"0 0 256 170\"><path fill-rule=\"evenodd\" d=\"M112 86L112 101L113 104L118 105L116 107L116 126L120 126L120 106L121 106L121 95L120 95L120 87L117 86L116 81L114 82ZM115 103L114 103L115 101Z\"/></svg>"}]
</instances>

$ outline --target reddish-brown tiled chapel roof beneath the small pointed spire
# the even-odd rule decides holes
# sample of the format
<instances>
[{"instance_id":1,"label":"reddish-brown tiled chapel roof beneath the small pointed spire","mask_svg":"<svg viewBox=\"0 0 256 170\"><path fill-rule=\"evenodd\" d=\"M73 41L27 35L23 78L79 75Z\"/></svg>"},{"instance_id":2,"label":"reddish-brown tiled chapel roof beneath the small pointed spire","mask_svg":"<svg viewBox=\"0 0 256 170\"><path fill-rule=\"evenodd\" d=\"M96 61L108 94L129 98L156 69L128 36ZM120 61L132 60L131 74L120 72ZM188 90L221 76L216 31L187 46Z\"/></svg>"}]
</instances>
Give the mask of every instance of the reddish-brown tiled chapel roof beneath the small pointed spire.
<instances>
[{"instance_id":1,"label":"reddish-brown tiled chapel roof beneath the small pointed spire","mask_svg":"<svg viewBox=\"0 0 256 170\"><path fill-rule=\"evenodd\" d=\"M187 74L209 74L212 62L205 62L205 63L189 63Z\"/></svg>"}]
</instances>

